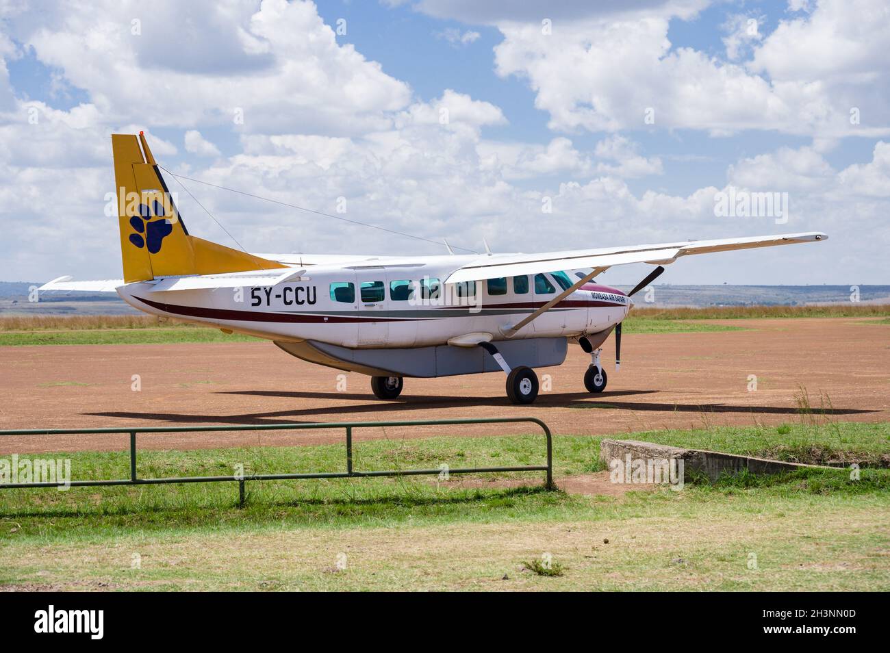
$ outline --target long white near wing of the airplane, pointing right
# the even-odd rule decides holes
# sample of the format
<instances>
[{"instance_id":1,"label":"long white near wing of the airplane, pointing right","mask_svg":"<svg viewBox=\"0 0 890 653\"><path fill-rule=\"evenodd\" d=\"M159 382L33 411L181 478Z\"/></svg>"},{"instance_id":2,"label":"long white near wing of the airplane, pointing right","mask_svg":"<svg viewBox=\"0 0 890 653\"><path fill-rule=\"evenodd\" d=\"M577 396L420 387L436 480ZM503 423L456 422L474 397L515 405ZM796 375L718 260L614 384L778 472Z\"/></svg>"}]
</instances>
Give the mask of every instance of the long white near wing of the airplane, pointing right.
<instances>
[{"instance_id":1,"label":"long white near wing of the airplane, pointing right","mask_svg":"<svg viewBox=\"0 0 890 653\"><path fill-rule=\"evenodd\" d=\"M458 268L445 279L445 283L481 281L487 278L514 277L538 272L598 268L604 270L627 263L651 263L666 265L681 256L730 252L736 249L772 247L795 243L812 243L827 240L825 234L812 231L776 236L752 236L748 238L724 238L722 240L690 240L660 245L607 247L601 249L546 252L543 254L491 254Z\"/></svg>"}]
</instances>

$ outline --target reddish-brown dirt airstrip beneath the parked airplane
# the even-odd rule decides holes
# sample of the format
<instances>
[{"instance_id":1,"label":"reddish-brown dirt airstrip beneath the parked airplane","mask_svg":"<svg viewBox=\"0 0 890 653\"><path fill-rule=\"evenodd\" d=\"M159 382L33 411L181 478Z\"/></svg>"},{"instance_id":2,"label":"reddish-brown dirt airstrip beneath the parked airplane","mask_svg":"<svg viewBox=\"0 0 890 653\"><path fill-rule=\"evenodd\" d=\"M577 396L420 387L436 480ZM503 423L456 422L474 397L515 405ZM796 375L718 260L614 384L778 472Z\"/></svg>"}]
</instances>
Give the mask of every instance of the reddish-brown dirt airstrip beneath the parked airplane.
<instances>
[{"instance_id":1,"label":"reddish-brown dirt airstrip beneath the parked airplane","mask_svg":"<svg viewBox=\"0 0 890 653\"><path fill-rule=\"evenodd\" d=\"M0 428L173 426L423 420L530 415L554 433L621 434L664 428L796 422L801 386L831 419L890 420L890 327L853 318L722 320L738 332L625 335L607 391L591 395L589 357L570 346L537 403L517 407L504 375L406 379L396 401L370 392L368 377L287 356L271 343L0 347ZM872 320L873 321L873 320ZM142 391L131 390L141 375ZM757 376L748 391L748 375ZM518 434L534 425L371 428L356 439L434 434ZM342 430L174 433L139 436L141 448L204 448L343 441ZM0 454L118 449L125 435L4 436Z\"/></svg>"}]
</instances>

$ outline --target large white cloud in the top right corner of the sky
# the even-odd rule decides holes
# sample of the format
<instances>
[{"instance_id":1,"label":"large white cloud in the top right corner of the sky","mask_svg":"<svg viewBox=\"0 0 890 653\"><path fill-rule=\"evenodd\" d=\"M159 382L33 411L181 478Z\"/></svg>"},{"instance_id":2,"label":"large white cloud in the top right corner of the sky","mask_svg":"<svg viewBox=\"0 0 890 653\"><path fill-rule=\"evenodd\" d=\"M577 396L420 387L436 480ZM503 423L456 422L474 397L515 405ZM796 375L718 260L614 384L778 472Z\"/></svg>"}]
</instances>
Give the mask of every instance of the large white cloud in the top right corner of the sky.
<instances>
[{"instance_id":1,"label":"large white cloud in the top right corner of the sky","mask_svg":"<svg viewBox=\"0 0 890 653\"><path fill-rule=\"evenodd\" d=\"M672 49L667 14L554 22L550 35L536 21L505 19L498 22L505 38L495 65L502 77L528 80L536 107L556 130L645 128L652 109L659 129L874 136L890 133L883 92L888 12L879 0L857 0L852 8L822 0L812 14L783 21L762 44L748 38L753 58L739 64ZM737 34L727 46L740 55ZM869 119L851 125L851 107Z\"/></svg>"}]
</instances>

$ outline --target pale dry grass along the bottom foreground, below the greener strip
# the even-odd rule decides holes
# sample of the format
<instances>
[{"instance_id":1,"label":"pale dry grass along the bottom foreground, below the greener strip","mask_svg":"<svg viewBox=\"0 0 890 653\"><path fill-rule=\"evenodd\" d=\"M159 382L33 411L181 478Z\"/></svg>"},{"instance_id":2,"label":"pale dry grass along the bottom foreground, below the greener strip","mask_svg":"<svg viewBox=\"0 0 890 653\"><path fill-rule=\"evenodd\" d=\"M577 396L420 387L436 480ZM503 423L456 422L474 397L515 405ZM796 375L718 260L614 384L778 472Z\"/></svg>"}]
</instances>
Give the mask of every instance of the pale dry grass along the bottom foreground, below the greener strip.
<instances>
[{"instance_id":1,"label":"pale dry grass along the bottom foreground, below the greener strip","mask_svg":"<svg viewBox=\"0 0 890 653\"><path fill-rule=\"evenodd\" d=\"M263 528L13 543L0 589L592 591L886 589L884 505L593 504L607 516L397 528ZM802 508L805 507L805 510ZM623 518L622 518L623 517ZM605 544L608 540L609 544ZM562 574L522 560L543 552ZM756 553L757 568L749 568ZM138 554L139 568L132 568ZM337 563L342 568L337 568ZM840 572L840 573L838 573Z\"/></svg>"}]
</instances>

